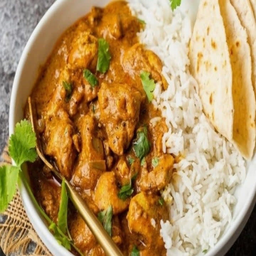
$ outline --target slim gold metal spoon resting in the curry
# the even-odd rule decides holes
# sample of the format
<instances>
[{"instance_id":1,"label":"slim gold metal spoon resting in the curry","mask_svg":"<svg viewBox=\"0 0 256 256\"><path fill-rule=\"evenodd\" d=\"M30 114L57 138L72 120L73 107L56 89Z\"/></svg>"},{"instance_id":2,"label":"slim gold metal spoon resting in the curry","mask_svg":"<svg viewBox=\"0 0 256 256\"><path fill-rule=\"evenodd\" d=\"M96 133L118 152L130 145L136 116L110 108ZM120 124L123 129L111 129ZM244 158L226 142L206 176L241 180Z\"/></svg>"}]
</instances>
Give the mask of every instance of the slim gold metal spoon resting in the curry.
<instances>
[{"instance_id":1,"label":"slim gold metal spoon resting in the curry","mask_svg":"<svg viewBox=\"0 0 256 256\"><path fill-rule=\"evenodd\" d=\"M32 129L36 134L34 128L34 118L33 118L33 111L32 111L32 104L31 104L31 97L28 97L28 108L30 112L30 122L32 125ZM37 134L36 134L37 138ZM46 164L46 166L53 172L54 175L58 177L59 180L63 180L62 174L60 174L44 157L41 143L37 138L37 145L36 151L41 158L41 160ZM103 250L105 251L107 256L123 256L122 252L119 250L117 245L108 235L107 231L103 228L100 221L97 219L95 214L91 211L91 209L87 206L86 202L81 198L80 194L75 190L75 188L70 184L69 181L65 180L66 187L68 188L68 193L71 201L73 202L75 208L81 214L81 217L84 219L86 225L91 230L92 234L95 236L98 243L101 245Z\"/></svg>"}]
</instances>

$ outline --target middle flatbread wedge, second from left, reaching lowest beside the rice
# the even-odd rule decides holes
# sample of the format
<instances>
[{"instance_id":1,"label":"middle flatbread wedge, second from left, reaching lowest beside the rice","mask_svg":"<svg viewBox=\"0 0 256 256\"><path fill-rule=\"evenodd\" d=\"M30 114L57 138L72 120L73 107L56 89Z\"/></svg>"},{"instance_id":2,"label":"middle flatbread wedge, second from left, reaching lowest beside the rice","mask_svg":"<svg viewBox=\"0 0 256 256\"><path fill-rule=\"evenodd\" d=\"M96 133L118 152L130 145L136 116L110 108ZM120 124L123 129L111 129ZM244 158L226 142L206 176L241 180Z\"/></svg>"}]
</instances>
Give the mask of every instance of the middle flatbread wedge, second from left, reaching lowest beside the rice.
<instances>
[{"instance_id":1,"label":"middle flatbread wedge, second from left, reaching lowest beside the rice","mask_svg":"<svg viewBox=\"0 0 256 256\"><path fill-rule=\"evenodd\" d=\"M230 0L219 0L219 6L233 71L233 142L244 158L251 159L256 137L256 102L251 81L250 46L245 28L242 27Z\"/></svg>"}]
</instances>

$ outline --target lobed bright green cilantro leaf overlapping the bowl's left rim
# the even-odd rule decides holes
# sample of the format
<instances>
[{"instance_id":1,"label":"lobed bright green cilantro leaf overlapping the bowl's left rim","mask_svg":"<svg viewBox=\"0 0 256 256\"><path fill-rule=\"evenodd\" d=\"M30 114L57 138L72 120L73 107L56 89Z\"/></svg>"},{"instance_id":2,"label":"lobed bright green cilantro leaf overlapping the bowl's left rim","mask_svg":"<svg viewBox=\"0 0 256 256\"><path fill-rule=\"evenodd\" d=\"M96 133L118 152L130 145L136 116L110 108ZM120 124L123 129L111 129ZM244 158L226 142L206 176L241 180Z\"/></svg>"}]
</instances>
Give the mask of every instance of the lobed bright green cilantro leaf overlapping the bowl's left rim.
<instances>
[{"instance_id":1,"label":"lobed bright green cilantro leaf overlapping the bowl's left rim","mask_svg":"<svg viewBox=\"0 0 256 256\"><path fill-rule=\"evenodd\" d=\"M32 130L31 123L23 120L15 126L14 134L11 135L9 153L18 167L23 162L34 162L36 153L36 134Z\"/></svg>"}]
</instances>

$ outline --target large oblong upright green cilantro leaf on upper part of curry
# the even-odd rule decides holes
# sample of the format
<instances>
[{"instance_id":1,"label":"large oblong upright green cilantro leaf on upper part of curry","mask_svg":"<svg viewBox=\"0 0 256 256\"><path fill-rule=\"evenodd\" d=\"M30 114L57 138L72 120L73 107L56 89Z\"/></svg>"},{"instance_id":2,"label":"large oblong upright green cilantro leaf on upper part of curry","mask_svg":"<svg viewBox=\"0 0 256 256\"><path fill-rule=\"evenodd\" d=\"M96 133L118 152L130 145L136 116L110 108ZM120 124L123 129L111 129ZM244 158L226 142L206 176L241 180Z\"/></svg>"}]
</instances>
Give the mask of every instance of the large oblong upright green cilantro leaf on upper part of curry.
<instances>
[{"instance_id":1,"label":"large oblong upright green cilantro leaf on upper part of curry","mask_svg":"<svg viewBox=\"0 0 256 256\"><path fill-rule=\"evenodd\" d=\"M109 52L109 44L104 38L98 39L98 60L97 71L105 73L110 66L111 55Z\"/></svg>"}]
</instances>

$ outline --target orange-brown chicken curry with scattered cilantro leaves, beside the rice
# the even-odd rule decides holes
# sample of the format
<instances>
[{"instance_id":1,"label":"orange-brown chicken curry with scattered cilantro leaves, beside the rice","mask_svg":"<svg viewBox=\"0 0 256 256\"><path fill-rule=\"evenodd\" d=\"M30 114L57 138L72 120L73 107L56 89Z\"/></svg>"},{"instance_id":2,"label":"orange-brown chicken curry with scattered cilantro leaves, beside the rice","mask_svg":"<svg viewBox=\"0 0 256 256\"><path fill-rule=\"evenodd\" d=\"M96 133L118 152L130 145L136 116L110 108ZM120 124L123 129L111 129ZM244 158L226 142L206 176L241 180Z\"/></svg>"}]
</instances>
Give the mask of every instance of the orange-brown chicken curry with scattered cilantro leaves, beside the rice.
<instances>
[{"instance_id":1,"label":"orange-brown chicken curry with scattered cilantro leaves, beside the rice","mask_svg":"<svg viewBox=\"0 0 256 256\"><path fill-rule=\"evenodd\" d=\"M96 215L108 214L127 256L134 248L166 255L160 191L174 164L162 152L165 119L151 103L154 84L167 83L159 57L138 41L143 26L124 1L93 7L59 39L31 95L44 154ZM61 187L41 161L29 167L36 198L57 222ZM105 255L71 203L68 226L84 255Z\"/></svg>"}]
</instances>

